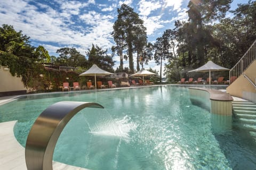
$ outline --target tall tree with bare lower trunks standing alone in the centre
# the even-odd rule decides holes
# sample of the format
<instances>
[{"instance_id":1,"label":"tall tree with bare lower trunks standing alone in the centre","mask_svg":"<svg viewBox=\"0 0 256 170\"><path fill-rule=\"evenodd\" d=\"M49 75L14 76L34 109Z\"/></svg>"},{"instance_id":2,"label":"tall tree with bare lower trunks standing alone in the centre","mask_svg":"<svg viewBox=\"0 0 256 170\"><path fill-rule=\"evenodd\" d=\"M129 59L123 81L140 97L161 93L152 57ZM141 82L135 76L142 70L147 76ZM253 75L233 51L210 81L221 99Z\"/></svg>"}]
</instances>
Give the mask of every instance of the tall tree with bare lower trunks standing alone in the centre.
<instances>
[{"instance_id":1,"label":"tall tree with bare lower trunks standing alone in the centre","mask_svg":"<svg viewBox=\"0 0 256 170\"><path fill-rule=\"evenodd\" d=\"M133 11L133 8L126 4L122 4L120 8L117 9L118 16L117 21L114 24L114 37L119 37L117 46L119 48L124 47L121 45L121 38L124 38L125 45L127 45L127 54L129 58L129 67L131 72L134 72L133 65L133 46L134 41L137 39L137 36L143 32L143 21L139 18L139 15ZM121 25L121 28L118 28L118 25ZM146 29L145 29L146 30ZM122 35L123 34L123 35ZM142 36L143 37L143 36ZM141 40L141 39L140 39ZM125 46L126 47L126 46ZM122 52L122 50L120 50ZM122 57L121 57L122 58Z\"/></svg>"}]
</instances>

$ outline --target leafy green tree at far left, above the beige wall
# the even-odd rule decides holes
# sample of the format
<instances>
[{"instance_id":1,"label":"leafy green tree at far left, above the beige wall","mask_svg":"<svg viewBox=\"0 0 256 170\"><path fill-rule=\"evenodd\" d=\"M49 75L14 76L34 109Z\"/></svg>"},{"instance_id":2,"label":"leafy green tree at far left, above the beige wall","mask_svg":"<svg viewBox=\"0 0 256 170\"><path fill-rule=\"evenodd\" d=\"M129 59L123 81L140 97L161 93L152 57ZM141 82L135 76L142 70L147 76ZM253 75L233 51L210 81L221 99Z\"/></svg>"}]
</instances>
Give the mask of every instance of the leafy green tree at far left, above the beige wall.
<instances>
[{"instance_id":1,"label":"leafy green tree at far left, above the beige wall","mask_svg":"<svg viewBox=\"0 0 256 170\"><path fill-rule=\"evenodd\" d=\"M8 66L11 74L27 79L27 72L37 65L38 56L35 48L30 46L29 37L22 31L15 31L11 25L0 27L0 64ZM27 86L26 82L23 82Z\"/></svg>"}]
</instances>

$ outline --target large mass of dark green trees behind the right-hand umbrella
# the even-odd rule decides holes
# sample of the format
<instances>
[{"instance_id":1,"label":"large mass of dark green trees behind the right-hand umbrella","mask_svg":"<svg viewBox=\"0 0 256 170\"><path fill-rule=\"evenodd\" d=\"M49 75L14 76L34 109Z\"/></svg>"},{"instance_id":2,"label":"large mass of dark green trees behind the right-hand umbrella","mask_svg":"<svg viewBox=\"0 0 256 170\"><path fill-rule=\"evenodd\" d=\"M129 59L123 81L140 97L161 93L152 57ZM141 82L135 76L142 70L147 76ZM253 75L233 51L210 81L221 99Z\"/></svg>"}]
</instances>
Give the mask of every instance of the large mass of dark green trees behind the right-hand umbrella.
<instances>
[{"instance_id":1,"label":"large mass of dark green trees behind the right-hand umbrella","mask_svg":"<svg viewBox=\"0 0 256 170\"><path fill-rule=\"evenodd\" d=\"M226 19L224 16L230 1L190 1L188 7L190 22L175 21L175 28L168 36L169 43L174 43L171 47L175 47L164 70L169 81L190 76L203 77L200 73L187 72L209 60L231 68L256 39L255 1L239 4L236 10L231 11L234 17ZM221 20L214 25L209 24L217 19ZM227 77L227 72L220 73Z\"/></svg>"}]
</instances>

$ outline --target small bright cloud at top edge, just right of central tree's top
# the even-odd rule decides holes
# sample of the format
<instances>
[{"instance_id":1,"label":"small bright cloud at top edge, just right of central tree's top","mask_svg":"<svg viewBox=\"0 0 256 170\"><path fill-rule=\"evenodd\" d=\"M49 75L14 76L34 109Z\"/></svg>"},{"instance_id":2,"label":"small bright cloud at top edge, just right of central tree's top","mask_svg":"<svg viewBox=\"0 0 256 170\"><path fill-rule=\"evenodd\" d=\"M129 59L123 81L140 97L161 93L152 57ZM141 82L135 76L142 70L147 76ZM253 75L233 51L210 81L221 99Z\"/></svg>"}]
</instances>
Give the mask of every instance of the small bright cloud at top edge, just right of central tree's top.
<instances>
[{"instance_id":1,"label":"small bright cloud at top edge, just right of central tree's top","mask_svg":"<svg viewBox=\"0 0 256 170\"><path fill-rule=\"evenodd\" d=\"M143 15L143 16L148 16L151 13L151 11L155 11L158 8L161 8L161 4L159 4L158 1L147 2L145 0L142 0L139 2L139 12L140 12L140 15Z\"/></svg>"}]
</instances>

